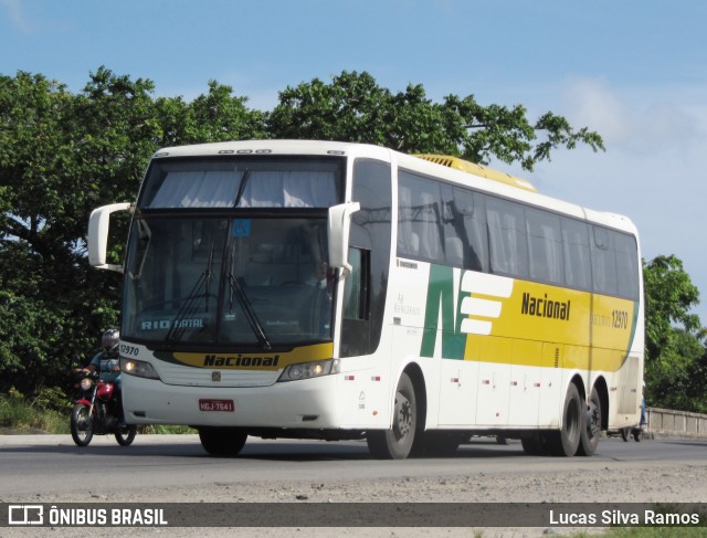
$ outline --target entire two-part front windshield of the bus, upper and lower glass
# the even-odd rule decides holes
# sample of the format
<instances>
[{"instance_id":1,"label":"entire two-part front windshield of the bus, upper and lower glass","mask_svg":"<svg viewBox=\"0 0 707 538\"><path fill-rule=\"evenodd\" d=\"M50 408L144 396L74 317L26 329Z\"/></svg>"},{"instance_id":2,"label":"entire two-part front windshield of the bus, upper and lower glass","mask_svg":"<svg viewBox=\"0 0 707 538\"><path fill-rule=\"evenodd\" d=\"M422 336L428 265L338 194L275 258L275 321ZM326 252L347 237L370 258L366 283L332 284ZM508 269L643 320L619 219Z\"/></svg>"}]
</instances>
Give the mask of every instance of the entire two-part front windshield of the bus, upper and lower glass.
<instances>
[{"instance_id":1,"label":"entire two-part front windshield of the bus, upper and lower glass","mask_svg":"<svg viewBox=\"0 0 707 538\"><path fill-rule=\"evenodd\" d=\"M130 229L123 336L267 350L331 339L339 158L156 159Z\"/></svg>"}]
</instances>

